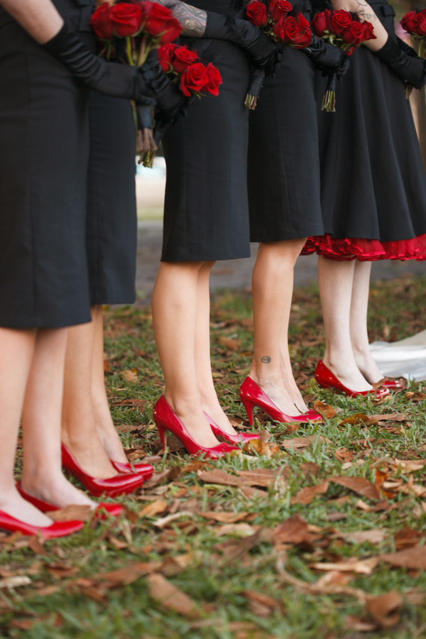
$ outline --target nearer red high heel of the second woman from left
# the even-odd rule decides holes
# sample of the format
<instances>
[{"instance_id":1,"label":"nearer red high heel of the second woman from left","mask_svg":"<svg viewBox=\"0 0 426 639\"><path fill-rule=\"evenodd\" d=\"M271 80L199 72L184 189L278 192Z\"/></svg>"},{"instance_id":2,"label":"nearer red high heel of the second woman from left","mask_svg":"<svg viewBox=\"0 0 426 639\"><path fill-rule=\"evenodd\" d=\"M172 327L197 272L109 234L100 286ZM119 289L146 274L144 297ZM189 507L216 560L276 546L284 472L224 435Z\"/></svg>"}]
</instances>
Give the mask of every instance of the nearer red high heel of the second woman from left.
<instances>
[{"instance_id":1,"label":"nearer red high heel of the second woman from left","mask_svg":"<svg viewBox=\"0 0 426 639\"><path fill-rule=\"evenodd\" d=\"M88 475L77 462L74 455L62 444L62 466L71 475L74 475L89 495L100 497L116 497L117 495L127 495L133 493L136 488L141 488L143 476L136 473L126 473L109 477L108 479L97 479Z\"/></svg>"}]
</instances>

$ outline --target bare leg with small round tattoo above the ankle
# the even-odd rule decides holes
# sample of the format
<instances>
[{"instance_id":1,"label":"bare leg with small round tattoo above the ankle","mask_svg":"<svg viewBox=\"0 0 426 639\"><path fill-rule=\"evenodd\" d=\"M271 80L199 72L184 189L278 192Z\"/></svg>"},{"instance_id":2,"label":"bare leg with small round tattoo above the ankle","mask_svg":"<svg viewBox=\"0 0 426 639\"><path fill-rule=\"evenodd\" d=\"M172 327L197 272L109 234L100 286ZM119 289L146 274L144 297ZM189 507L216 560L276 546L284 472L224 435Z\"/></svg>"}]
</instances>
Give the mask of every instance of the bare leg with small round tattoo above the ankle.
<instances>
[{"instance_id":1,"label":"bare leg with small round tattoo above the ankle","mask_svg":"<svg viewBox=\"0 0 426 639\"><path fill-rule=\"evenodd\" d=\"M307 410L288 354L293 269L303 244L305 238L262 242L253 269L254 351L250 376L287 415Z\"/></svg>"}]
</instances>

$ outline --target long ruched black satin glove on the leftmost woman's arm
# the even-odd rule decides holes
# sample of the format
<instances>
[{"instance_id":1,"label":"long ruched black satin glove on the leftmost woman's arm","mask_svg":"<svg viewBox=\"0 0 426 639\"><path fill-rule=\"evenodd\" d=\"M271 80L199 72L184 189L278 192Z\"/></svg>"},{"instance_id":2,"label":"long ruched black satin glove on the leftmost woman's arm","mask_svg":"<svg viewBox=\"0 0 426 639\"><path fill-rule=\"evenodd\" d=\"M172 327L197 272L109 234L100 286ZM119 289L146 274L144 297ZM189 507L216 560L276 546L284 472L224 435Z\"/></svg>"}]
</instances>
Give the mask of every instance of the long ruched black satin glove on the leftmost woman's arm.
<instances>
[{"instance_id":1,"label":"long ruched black satin glove on the leftmost woman's arm","mask_svg":"<svg viewBox=\"0 0 426 639\"><path fill-rule=\"evenodd\" d=\"M66 25L43 48L68 67L78 80L100 93L155 104L138 67L107 62L94 55Z\"/></svg>"}]
</instances>

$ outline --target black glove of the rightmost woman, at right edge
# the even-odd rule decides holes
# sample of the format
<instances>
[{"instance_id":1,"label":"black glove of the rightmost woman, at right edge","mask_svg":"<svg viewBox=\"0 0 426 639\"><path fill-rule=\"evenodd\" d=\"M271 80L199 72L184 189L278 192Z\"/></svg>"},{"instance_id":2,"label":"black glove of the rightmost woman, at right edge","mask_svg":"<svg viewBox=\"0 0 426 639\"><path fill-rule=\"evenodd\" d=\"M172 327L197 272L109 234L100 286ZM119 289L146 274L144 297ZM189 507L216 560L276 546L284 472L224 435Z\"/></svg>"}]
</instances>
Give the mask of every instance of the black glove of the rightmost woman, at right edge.
<instances>
[{"instance_id":1,"label":"black glove of the rightmost woman, at right edge","mask_svg":"<svg viewBox=\"0 0 426 639\"><path fill-rule=\"evenodd\" d=\"M404 46L401 46L401 44ZM378 51L373 51L373 53L383 62L386 62L388 67L391 67L401 80L413 84L416 89L421 89L426 84L426 60L419 58L414 50L414 55L411 52L408 53L405 50L407 46L402 40L395 42L393 38L389 37L386 40L386 44Z\"/></svg>"}]
</instances>

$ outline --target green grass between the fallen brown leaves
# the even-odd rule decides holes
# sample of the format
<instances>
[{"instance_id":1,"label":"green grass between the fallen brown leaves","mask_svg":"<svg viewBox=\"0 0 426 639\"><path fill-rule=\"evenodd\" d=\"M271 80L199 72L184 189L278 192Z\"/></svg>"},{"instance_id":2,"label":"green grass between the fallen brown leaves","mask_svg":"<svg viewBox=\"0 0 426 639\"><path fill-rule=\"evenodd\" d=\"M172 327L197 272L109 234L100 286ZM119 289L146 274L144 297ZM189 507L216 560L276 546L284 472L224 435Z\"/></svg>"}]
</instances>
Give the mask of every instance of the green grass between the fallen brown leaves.
<instances>
[{"instance_id":1,"label":"green grass between the fallen brown leaves","mask_svg":"<svg viewBox=\"0 0 426 639\"><path fill-rule=\"evenodd\" d=\"M374 283L371 288L369 326L371 339L401 339L423 329L424 291L426 278L408 276L394 282ZM224 291L214 297L212 304L212 364L217 391L226 412L238 420L246 415L239 403L239 383L244 379L251 359L253 329L250 325L251 300L244 293ZM237 350L229 350L219 338L239 340ZM329 484L326 494L317 496L309 505L290 505L290 499L303 487L317 484L337 475L366 477L375 480L374 460L386 455L398 459L426 459L425 403L413 403L404 393L393 395L383 405L374 405L371 398L349 399L331 391L322 391L312 375L317 359L322 355L323 332L320 303L315 288L295 291L290 328L290 349L297 382L305 395L341 409L337 417L326 420L320 427L302 425L290 435L282 426L261 421L256 427L271 434L269 444L285 439L322 435L305 449L284 449L272 459L253 456L222 459L212 468L236 474L241 469L280 468L285 466L288 479L277 491L270 489L265 498L251 501L239 488L204 484L195 471L181 472L175 481L165 483L142 496L152 501L168 501L169 507L180 499L180 510L190 509L191 515L176 519L170 528L158 530L153 522L157 518L121 519L115 524L86 525L82 532L60 541L46 542L47 555L35 555L29 547L21 550L0 551L0 578L13 574L28 574L31 584L16 589L0 589L0 633L4 637L28 639L355 639L358 637L408 639L426 636L426 606L413 603L409 591L426 593L426 572L391 568L379 562L371 574L352 574L349 586L370 595L398 591L403 596L400 621L390 628L359 632L347 616L355 616L371 623L363 603L350 594L306 594L306 591L283 581L277 557L287 552L285 571L290 577L305 584L314 584L323 573L310 567L312 562L339 562L349 557L360 559L375 557L395 550L395 534L408 526L425 531L426 514L421 499L413 493L397 493L391 498L394 508L379 512L366 512L356 504L359 496L337 484ZM143 447L146 455L155 455L158 434L152 424L153 403L163 388L163 377L153 342L151 317L148 309L129 307L106 313L106 355L110 370L107 384L111 395L114 422L128 449ZM135 383L124 381L121 373L133 371ZM421 384L412 383L410 391L421 391ZM126 398L142 399L142 408L116 406ZM339 421L355 413L405 413L410 427L401 432L388 432L381 426L364 427L363 424L339 426ZM386 422L388 425L390 422ZM126 428L126 425L129 428ZM126 431L126 432L125 432ZM365 442L365 443L364 443ZM342 461L335 452L345 448L354 464L342 470ZM364 453L367 452L365 455ZM20 471L20 457L16 471ZM183 467L190 458L182 451L169 452L155 464L159 472L172 466ZM304 462L320 466L317 478L301 471ZM176 475L178 472L176 471ZM390 479L408 476L398 471ZM426 485L425 471L413 473L415 484ZM187 491L185 493L185 487ZM185 493L185 495L183 494ZM335 501L347 496L346 501ZM122 499L134 513L149 501L130 496ZM365 503L373 506L368 498ZM334 503L333 503L334 502ZM209 523L197 511L221 510L246 512L249 525L273 529L290 516L301 515L309 525L321 529L320 538L312 543L288 545L279 548L265 538L251 550L242 552L237 559L226 555L231 542L240 542L232 534L217 537L221 523ZM330 515L331 519L330 520ZM163 515L158 515L162 517ZM340 519L339 519L340 517ZM132 521L134 519L134 521ZM111 527L112 526L112 527ZM110 529L108 530L108 528ZM342 535L349 531L380 528L386 537L378 545L364 542L354 545ZM340 535L339 533L342 533ZM119 539L128 547L117 550L112 539ZM3 540L0 539L0 544ZM424 542L425 540L423 540ZM422 543L422 542L420 542ZM165 559L190 554L186 567L168 572ZM74 574L55 577L48 572L48 564L62 563L74 568ZM65 562L65 564L64 564ZM131 584L108 588L94 575L134 564L151 562L158 573L178 589L190 596L199 606L195 619L164 608L150 596L147 577L142 575ZM156 563L154 563L156 562ZM176 567L176 564L175 564ZM48 586L58 586L53 594L43 594ZM107 584L108 586L108 584ZM39 591L39 592L38 592ZM246 591L271 596L279 606L259 608L249 599ZM40 594L41 593L41 594ZM101 601L94 599L97 597ZM346 620L346 621L345 621ZM26 626L23 629L22 623Z\"/></svg>"}]
</instances>

